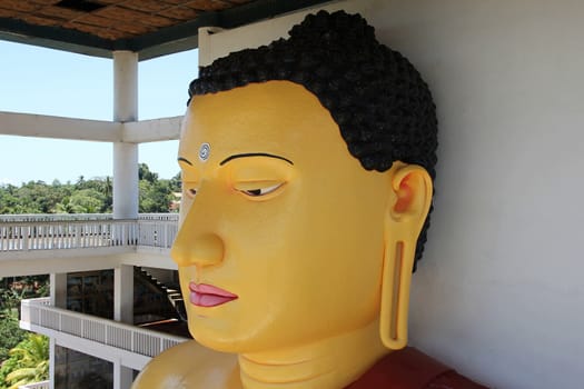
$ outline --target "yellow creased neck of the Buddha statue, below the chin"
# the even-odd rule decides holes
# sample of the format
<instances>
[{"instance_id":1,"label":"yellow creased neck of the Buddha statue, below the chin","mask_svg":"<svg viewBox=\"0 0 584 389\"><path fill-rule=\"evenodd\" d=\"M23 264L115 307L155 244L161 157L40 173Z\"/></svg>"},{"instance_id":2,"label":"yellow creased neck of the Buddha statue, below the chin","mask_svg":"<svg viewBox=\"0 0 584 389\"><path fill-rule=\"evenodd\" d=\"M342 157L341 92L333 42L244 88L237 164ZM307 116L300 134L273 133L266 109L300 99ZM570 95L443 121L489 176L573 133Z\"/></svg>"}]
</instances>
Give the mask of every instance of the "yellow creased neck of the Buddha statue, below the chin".
<instances>
[{"instance_id":1,"label":"yellow creased neck of the Buddha statue, below the chin","mask_svg":"<svg viewBox=\"0 0 584 389\"><path fill-rule=\"evenodd\" d=\"M340 389L385 353L379 322L294 348L239 355L245 389Z\"/></svg>"}]
</instances>

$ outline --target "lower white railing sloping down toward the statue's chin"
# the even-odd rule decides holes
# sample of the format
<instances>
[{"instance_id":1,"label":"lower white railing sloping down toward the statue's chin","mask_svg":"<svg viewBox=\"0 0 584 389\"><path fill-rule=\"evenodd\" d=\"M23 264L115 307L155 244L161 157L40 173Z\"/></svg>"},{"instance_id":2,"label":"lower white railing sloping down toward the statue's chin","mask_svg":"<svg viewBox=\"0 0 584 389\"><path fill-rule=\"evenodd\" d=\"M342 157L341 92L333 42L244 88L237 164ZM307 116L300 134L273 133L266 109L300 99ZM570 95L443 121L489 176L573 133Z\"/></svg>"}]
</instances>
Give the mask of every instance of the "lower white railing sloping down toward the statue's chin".
<instances>
[{"instance_id":1,"label":"lower white railing sloping down toward the statue's chin","mask_svg":"<svg viewBox=\"0 0 584 389\"><path fill-rule=\"evenodd\" d=\"M89 339L146 357L156 357L166 349L188 340L56 308L50 306L49 298L22 300L20 309L21 322Z\"/></svg>"}]
</instances>

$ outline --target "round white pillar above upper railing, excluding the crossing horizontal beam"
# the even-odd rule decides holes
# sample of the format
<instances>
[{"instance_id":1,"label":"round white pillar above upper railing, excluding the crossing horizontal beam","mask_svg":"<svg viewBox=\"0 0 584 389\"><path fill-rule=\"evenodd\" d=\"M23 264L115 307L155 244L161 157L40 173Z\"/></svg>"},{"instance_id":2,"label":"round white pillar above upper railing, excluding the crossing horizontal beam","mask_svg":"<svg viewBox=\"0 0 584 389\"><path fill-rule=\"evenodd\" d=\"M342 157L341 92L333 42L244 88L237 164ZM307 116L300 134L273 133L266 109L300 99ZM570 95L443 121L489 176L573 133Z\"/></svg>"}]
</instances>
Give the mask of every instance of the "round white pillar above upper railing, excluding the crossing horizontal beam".
<instances>
[{"instance_id":1,"label":"round white pillar above upper railing, excluding the crossing horizontal beam","mask_svg":"<svg viewBox=\"0 0 584 389\"><path fill-rule=\"evenodd\" d=\"M138 53L113 51L113 120L138 120ZM113 218L138 218L138 144L113 143Z\"/></svg>"}]
</instances>

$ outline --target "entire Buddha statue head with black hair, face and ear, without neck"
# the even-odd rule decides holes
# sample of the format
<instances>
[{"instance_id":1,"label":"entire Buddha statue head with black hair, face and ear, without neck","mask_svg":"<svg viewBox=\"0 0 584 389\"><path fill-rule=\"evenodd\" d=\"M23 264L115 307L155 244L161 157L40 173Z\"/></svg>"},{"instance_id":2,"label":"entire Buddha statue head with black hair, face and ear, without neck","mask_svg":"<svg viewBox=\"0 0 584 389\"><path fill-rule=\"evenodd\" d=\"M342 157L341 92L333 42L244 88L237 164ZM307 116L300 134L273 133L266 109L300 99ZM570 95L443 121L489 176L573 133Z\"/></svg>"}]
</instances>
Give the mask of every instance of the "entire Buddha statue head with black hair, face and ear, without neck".
<instances>
[{"instance_id":1,"label":"entire Buddha statue head with black hair, face and ear, without neck","mask_svg":"<svg viewBox=\"0 0 584 389\"><path fill-rule=\"evenodd\" d=\"M321 11L202 68L189 96L171 256L194 338L260 352L378 322L404 347L437 144L410 62Z\"/></svg>"}]
</instances>

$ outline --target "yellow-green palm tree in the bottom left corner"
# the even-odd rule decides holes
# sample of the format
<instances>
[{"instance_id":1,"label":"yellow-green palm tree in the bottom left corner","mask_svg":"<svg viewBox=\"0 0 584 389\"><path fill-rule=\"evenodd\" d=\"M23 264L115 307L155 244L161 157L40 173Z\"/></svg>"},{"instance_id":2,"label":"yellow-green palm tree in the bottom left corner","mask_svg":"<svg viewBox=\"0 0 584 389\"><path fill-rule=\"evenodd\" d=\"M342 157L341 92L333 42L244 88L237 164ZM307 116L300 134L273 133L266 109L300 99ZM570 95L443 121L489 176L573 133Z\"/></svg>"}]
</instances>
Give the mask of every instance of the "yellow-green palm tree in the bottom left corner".
<instances>
[{"instance_id":1,"label":"yellow-green palm tree in the bottom left corner","mask_svg":"<svg viewBox=\"0 0 584 389\"><path fill-rule=\"evenodd\" d=\"M49 339L42 335L31 333L9 351L19 359L17 369L6 377L8 389L43 381L49 378Z\"/></svg>"}]
</instances>

